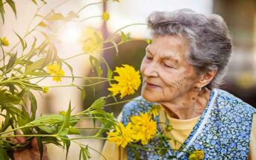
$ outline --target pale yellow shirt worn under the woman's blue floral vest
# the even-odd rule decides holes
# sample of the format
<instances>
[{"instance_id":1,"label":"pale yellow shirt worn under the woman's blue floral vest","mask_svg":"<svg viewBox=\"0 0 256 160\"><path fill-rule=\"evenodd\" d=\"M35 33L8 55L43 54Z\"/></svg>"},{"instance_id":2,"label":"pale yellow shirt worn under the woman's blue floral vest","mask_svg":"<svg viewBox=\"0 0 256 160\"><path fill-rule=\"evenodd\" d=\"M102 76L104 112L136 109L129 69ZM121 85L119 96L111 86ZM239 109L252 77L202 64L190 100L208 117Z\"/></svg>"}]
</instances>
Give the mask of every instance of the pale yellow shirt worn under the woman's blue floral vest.
<instances>
[{"instance_id":1,"label":"pale yellow shirt worn under the woman's blue floral vest","mask_svg":"<svg viewBox=\"0 0 256 160\"><path fill-rule=\"evenodd\" d=\"M121 121L122 118L122 112L119 114L117 120ZM160 111L159 114L160 122L166 121L166 115L164 114L163 110ZM187 120L180 120L175 118L168 117L169 124L172 124L172 130L166 131L166 125L162 124L160 127L164 130L164 134L167 137L175 137L176 140L178 140L180 143L174 143L172 140L168 141L169 144L174 149L178 149L181 147L181 144L184 143L184 141L187 139L187 137L190 135L190 132L193 130L193 127L195 127L196 122L199 120L199 117L187 119ZM102 155L107 160L127 160L128 155L126 153L125 148L122 147L116 147L116 144L110 141L106 141L102 150ZM103 158L102 158L103 159ZM249 160L256 160L256 113L253 116L252 120L252 131L251 131L251 138L250 138L250 144L249 144Z\"/></svg>"}]
</instances>

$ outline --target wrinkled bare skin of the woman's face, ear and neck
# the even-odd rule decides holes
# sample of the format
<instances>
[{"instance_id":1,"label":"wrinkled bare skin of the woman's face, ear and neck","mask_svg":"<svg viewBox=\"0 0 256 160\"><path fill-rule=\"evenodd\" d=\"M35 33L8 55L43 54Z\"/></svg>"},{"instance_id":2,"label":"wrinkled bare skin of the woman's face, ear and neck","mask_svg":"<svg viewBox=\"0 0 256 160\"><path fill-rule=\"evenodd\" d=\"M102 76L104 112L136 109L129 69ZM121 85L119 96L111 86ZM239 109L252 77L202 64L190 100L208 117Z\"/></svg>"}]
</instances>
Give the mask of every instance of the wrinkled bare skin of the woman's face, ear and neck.
<instances>
[{"instance_id":1,"label":"wrinkled bare skin of the woman's face, ear and neck","mask_svg":"<svg viewBox=\"0 0 256 160\"><path fill-rule=\"evenodd\" d=\"M185 58L186 52L187 42L180 36L154 36L140 66L141 95L162 104L173 118L188 119L202 114L210 91L199 92L199 88L210 83L216 74L196 74Z\"/></svg>"}]
</instances>

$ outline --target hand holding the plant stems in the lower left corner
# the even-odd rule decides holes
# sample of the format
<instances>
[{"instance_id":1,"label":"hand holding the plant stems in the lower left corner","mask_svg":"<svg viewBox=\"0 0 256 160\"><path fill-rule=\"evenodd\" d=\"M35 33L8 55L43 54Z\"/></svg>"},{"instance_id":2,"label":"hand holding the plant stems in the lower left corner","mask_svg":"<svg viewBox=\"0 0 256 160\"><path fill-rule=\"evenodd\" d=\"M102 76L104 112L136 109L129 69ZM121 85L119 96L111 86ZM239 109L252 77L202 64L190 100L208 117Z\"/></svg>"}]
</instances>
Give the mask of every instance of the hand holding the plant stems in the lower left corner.
<instances>
[{"instance_id":1,"label":"hand holding the plant stems in the lower left corner","mask_svg":"<svg viewBox=\"0 0 256 160\"><path fill-rule=\"evenodd\" d=\"M25 137L16 137L12 140L14 143L24 144L26 141ZM32 138L31 148L17 151L13 153L15 160L40 160L40 151L37 145L37 138ZM43 145L43 160L49 160L47 155L47 147Z\"/></svg>"}]
</instances>

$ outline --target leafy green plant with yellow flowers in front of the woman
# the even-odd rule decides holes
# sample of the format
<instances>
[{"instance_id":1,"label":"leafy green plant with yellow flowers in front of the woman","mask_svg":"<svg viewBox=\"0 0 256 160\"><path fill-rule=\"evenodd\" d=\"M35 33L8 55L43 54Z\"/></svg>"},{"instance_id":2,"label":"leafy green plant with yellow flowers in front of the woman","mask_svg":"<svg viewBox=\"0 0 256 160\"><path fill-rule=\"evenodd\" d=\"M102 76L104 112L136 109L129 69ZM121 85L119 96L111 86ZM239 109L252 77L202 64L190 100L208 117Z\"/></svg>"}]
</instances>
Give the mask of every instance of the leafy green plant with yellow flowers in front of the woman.
<instances>
[{"instance_id":1,"label":"leafy green plant with yellow flowers in front of the woman","mask_svg":"<svg viewBox=\"0 0 256 160\"><path fill-rule=\"evenodd\" d=\"M110 19L108 12L103 12L98 16L89 16L87 18L81 17L80 13L90 5L102 4L107 0L99 1L92 4L87 4L81 7L78 11L70 11L66 15L63 13L56 13L57 7L65 4L63 1L52 8L51 11L42 16L40 10L47 6L47 1L31 0L37 6L37 12L34 18L28 25L28 30L24 36L20 36L14 31L19 42L12 44L9 42L7 36L0 37L0 157L3 160L13 159L13 152L17 150L24 150L31 147L32 138L37 138L38 148L40 150L41 159L43 156L43 144L55 144L58 147L66 149L66 157L69 152L71 142L80 147L80 159L90 159L89 149L93 149L87 144L82 144L76 140L85 138L100 138L115 142L117 146L143 148L148 150L146 144L154 137L166 138L163 133L157 132L157 122L155 117L161 109L161 106L152 106L149 112L140 112L139 115L131 117L131 122L126 126L121 122L116 121L113 114L104 111L104 106L111 106L118 103L125 103L129 100L117 101L115 96L120 99L126 95L133 95L140 87L141 77L131 65L122 65L116 67L114 71L111 70L104 59L101 51L109 48L115 48L118 52L118 46L124 42L130 41L130 34L122 32L123 28L114 32L111 36L104 38L100 31L94 28L87 27L86 39L82 39L83 53L72 55L71 57L60 57L57 46L54 41L60 37L57 34L60 29L68 22L84 23L87 19L100 18L104 22ZM118 0L114 0L114 2ZM1 19L4 24L4 9L9 6L16 16L16 4L13 0L0 1ZM36 19L40 19L36 21ZM51 26L55 22L57 26ZM31 24L37 25L32 26ZM145 25L145 24L132 24ZM49 32L47 32L49 31ZM39 36L34 36L34 33L40 33ZM34 37L32 43L27 42L28 36ZM151 40L147 40L148 43ZM110 47L104 48L105 44L111 44ZM12 48L7 48L11 46ZM18 48L20 47L20 49ZM72 65L68 60L75 57L87 55L90 60L90 65L96 71L98 77L80 77L73 73ZM101 65L107 68L107 77L102 77ZM69 73L63 70L63 66L69 68ZM51 78L55 82L60 82L65 79L70 79L71 83L68 85L49 86L44 83L46 78ZM77 85L75 79L87 80L90 84ZM97 80L93 83L93 80ZM72 106L66 111L60 111L57 114L40 115L37 117L37 97L36 92L41 95L47 94L49 89L53 87L76 87L81 91L81 95L85 97L84 86L95 86L99 83L109 83L109 95L99 97L93 104L82 112L72 113ZM40 85L43 84L43 85ZM28 97L28 98L25 98ZM107 99L113 98L116 103L108 103ZM83 136L80 129L77 127L79 121L90 119L95 123L99 121L102 126L97 127L97 132L94 135ZM86 128L86 127L85 127ZM90 128L90 129L95 129ZM17 131L22 131L22 135ZM102 133L107 132L108 137L102 138ZM81 135L78 137L70 137L67 135ZM12 141L13 138L25 137L26 141L23 144L17 144ZM165 153L168 148L160 148L160 153ZM196 150L189 153L189 159L203 159L204 153L202 150Z\"/></svg>"}]
</instances>

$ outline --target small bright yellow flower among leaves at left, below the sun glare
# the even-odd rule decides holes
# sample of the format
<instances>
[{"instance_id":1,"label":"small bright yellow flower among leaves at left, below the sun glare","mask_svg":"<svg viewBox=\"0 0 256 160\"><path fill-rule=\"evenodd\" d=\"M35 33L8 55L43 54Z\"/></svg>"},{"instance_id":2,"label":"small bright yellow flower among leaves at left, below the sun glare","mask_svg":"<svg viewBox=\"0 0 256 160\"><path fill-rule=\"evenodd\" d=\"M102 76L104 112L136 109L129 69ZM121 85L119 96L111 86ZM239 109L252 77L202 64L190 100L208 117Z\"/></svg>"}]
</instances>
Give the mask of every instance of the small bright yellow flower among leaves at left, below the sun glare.
<instances>
[{"instance_id":1,"label":"small bright yellow flower among leaves at left, below the sun glare","mask_svg":"<svg viewBox=\"0 0 256 160\"><path fill-rule=\"evenodd\" d=\"M62 68L60 68L60 65L58 65L57 63L48 65L47 69L48 69L49 74L54 76L54 77L52 77L52 80L54 80L56 82L61 81L61 77L63 77L65 75L65 72L63 71Z\"/></svg>"}]
</instances>

